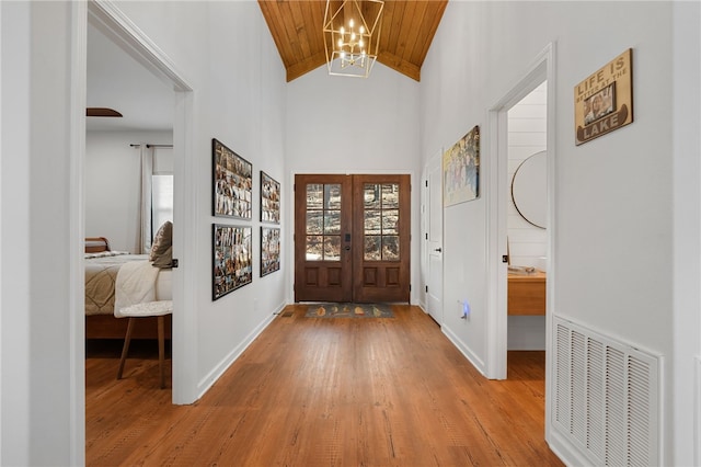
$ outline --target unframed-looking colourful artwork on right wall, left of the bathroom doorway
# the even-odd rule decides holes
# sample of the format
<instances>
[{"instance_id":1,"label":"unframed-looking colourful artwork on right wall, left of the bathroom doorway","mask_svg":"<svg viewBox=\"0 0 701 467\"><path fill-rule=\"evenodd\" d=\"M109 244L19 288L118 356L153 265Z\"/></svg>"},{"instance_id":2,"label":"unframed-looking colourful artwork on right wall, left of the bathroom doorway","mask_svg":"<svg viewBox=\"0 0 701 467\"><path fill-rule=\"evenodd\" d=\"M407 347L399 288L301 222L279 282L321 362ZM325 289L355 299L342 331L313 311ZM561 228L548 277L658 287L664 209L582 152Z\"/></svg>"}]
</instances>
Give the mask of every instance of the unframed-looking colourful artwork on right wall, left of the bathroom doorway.
<instances>
[{"instance_id":1,"label":"unframed-looking colourful artwork on right wall, left of the bathroom doorway","mask_svg":"<svg viewBox=\"0 0 701 467\"><path fill-rule=\"evenodd\" d=\"M480 196L480 127L475 126L443 155L443 205Z\"/></svg>"}]
</instances>

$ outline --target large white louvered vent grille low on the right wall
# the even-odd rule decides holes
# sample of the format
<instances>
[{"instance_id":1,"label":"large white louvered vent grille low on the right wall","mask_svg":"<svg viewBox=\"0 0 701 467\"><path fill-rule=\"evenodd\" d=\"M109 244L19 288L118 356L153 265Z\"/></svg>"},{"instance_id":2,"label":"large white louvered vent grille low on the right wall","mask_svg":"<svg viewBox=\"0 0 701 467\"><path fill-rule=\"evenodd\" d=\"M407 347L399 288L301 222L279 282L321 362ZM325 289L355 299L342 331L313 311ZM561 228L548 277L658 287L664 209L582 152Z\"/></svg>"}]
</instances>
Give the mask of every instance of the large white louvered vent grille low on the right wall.
<instances>
[{"instance_id":1,"label":"large white louvered vent grille low on the right wall","mask_svg":"<svg viewBox=\"0 0 701 467\"><path fill-rule=\"evenodd\" d=\"M553 319L553 429L593 465L659 465L659 357Z\"/></svg>"}]
</instances>

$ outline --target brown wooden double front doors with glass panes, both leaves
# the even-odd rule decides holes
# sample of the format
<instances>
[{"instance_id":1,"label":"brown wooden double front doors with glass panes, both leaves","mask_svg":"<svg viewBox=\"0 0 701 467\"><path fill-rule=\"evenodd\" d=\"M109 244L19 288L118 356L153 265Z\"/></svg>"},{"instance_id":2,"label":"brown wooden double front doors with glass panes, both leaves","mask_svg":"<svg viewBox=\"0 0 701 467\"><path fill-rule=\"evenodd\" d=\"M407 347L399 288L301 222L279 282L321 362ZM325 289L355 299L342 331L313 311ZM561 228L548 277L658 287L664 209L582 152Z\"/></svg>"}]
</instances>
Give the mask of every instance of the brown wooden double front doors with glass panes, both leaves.
<instances>
[{"instance_id":1,"label":"brown wooden double front doors with glass panes, both leaves","mask_svg":"<svg viewBox=\"0 0 701 467\"><path fill-rule=\"evenodd\" d=\"M295 301L409 301L409 175L295 176Z\"/></svg>"}]
</instances>

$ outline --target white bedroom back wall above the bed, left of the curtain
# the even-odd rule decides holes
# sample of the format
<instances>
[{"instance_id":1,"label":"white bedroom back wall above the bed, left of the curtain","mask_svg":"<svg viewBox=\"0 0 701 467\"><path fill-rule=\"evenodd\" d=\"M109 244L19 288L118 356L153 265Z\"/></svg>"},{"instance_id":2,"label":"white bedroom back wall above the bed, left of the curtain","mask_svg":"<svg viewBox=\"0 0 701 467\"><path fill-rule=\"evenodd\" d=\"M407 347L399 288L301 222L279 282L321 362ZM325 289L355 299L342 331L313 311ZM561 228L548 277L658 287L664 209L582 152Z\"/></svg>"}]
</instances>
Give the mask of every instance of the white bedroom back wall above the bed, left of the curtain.
<instances>
[{"instance_id":1,"label":"white bedroom back wall above the bed, left of the curtain","mask_svg":"<svg viewBox=\"0 0 701 467\"><path fill-rule=\"evenodd\" d=\"M87 134L85 237L106 237L113 250L140 253L141 161L140 149L130 145L172 143L172 132Z\"/></svg>"}]
</instances>

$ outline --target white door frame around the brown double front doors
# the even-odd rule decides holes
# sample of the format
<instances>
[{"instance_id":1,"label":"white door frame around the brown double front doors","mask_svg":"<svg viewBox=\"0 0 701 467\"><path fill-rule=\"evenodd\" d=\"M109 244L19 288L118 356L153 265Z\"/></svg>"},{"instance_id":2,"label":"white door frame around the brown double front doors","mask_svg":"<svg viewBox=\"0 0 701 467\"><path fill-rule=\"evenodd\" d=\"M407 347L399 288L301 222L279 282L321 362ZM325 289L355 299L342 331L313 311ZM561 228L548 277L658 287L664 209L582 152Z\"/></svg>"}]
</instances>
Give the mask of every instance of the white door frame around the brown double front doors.
<instances>
[{"instance_id":1,"label":"white door frame around the brown double front doors","mask_svg":"<svg viewBox=\"0 0 701 467\"><path fill-rule=\"evenodd\" d=\"M287 300L290 304L295 303L295 178L298 174L358 174L358 175L382 175L382 174L391 174L391 175L401 175L407 174L411 186L411 227L410 227L410 242L411 242L411 258L422 258L421 257L421 242L416 241L416 239L421 238L421 215L417 209L421 206L421 190L416 190L414 184L416 182L416 171L412 169L401 170L361 170L361 169L344 169L344 170L303 170L303 169L292 169L289 172L289 184L287 189L287 200L290 200L289 208L284 209L284 217L286 219L286 231L287 238L290 239L290 247L287 249L287 261L290 264L290 267L286 267L287 274L287 289L286 296ZM283 198L283 201L285 197ZM283 206L284 208L285 206ZM417 289L421 288L417 284L421 284L421 276L418 275L418 270L421 261L411 261L410 267L410 286L411 291L409 293L409 299L411 305L416 305Z\"/></svg>"}]
</instances>

